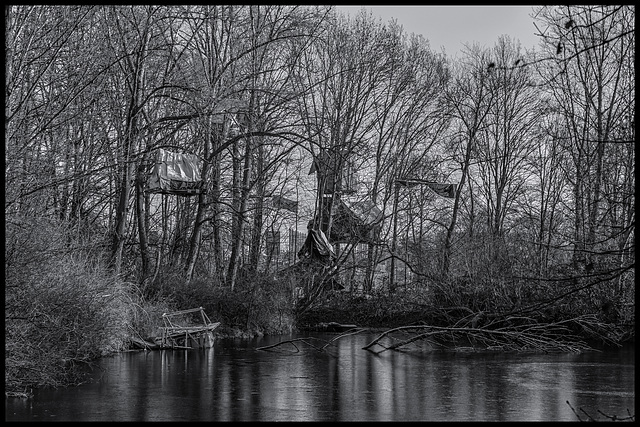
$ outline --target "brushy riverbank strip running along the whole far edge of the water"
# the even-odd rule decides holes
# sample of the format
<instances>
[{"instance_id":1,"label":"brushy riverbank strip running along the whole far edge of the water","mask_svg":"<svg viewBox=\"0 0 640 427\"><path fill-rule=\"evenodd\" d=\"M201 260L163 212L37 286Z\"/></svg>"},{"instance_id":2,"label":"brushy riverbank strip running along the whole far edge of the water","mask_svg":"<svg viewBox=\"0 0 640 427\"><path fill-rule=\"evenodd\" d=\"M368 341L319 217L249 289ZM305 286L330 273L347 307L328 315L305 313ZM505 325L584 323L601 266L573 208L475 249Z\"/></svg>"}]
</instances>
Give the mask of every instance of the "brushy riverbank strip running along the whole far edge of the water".
<instances>
[{"instance_id":1,"label":"brushy riverbank strip running along the whole far edge of the water","mask_svg":"<svg viewBox=\"0 0 640 427\"><path fill-rule=\"evenodd\" d=\"M103 288L95 289L97 285ZM79 384L83 378L78 367L131 350L133 340L157 336L163 314L194 306L203 307L212 321L220 322L214 331L218 340L355 325L381 331L404 328L399 332L409 337L426 334L437 342L484 341L507 351L574 351L585 348L583 343L615 346L635 336L633 313L618 314L618 323L614 323L615 319L607 317L611 312L592 313L585 305L548 304L532 310L540 305L540 300L532 299L507 307L504 303L511 300L491 299L490 287L478 288L473 294L454 285L372 295L327 292L309 309L297 312L288 288L266 280L242 282L231 290L212 287L204 280L185 284L176 279L164 294L147 288L154 297L144 297L134 284L106 279L78 280L72 288L50 286L47 292L43 286L36 283L28 288L32 292L21 294L20 304L15 295L8 296L14 307L21 308L7 311L6 395ZM545 297L542 301L551 298L538 295ZM60 304L51 305L55 301ZM23 310L35 315L23 320ZM66 339L60 340L60 336ZM34 341L46 343L46 347L33 352Z\"/></svg>"}]
</instances>

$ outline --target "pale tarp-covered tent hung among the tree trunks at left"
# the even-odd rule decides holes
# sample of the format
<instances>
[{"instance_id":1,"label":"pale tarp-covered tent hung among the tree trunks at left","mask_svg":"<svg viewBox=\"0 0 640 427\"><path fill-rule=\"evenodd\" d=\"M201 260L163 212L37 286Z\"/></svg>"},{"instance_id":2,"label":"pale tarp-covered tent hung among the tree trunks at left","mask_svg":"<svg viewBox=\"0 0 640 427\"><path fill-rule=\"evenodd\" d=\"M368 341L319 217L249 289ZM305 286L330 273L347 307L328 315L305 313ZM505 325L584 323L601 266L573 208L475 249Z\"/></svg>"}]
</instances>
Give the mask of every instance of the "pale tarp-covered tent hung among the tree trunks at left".
<instances>
[{"instance_id":1,"label":"pale tarp-covered tent hung among the tree trunks at left","mask_svg":"<svg viewBox=\"0 0 640 427\"><path fill-rule=\"evenodd\" d=\"M202 161L198 156L158 149L148 181L150 193L192 196L203 191L203 184Z\"/></svg>"}]
</instances>

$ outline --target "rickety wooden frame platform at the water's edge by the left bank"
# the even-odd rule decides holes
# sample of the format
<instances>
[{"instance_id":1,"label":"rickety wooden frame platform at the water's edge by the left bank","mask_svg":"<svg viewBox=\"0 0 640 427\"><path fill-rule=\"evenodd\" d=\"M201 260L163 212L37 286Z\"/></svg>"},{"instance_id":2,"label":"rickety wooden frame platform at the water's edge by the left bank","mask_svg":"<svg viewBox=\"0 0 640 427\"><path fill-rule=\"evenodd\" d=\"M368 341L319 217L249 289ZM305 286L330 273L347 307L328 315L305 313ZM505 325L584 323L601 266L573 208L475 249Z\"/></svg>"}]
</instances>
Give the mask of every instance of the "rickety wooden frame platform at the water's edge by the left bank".
<instances>
[{"instance_id":1,"label":"rickety wooden frame platform at the water's edge by the left bank","mask_svg":"<svg viewBox=\"0 0 640 427\"><path fill-rule=\"evenodd\" d=\"M186 324L193 313L199 313L202 324ZM213 347L213 330L220 322L211 322L202 307L174 311L162 315L164 326L156 342L160 348L210 348ZM178 322L183 323L180 325Z\"/></svg>"}]
</instances>

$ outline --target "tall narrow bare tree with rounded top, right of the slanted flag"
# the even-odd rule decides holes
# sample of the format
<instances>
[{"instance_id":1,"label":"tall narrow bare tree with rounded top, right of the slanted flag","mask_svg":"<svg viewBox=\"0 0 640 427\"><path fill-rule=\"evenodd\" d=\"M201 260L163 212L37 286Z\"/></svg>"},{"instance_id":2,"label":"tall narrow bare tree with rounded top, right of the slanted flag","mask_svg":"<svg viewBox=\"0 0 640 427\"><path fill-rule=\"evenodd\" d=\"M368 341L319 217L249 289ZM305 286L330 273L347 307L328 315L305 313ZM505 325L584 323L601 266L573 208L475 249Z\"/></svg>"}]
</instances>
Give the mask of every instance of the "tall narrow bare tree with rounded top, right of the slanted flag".
<instances>
[{"instance_id":1,"label":"tall narrow bare tree with rounded top, right of the slanted flag","mask_svg":"<svg viewBox=\"0 0 640 427\"><path fill-rule=\"evenodd\" d=\"M488 53L496 67L487 67L487 89L493 102L485 126L473 147L472 181L477 187L475 202L486 219L485 258L482 268L488 277L513 274L509 254L515 245L510 224L518 218L517 207L525 196L531 170L528 158L539 144L536 124L540 120L541 100L528 67L510 68L522 57L508 37L500 38Z\"/></svg>"}]
</instances>

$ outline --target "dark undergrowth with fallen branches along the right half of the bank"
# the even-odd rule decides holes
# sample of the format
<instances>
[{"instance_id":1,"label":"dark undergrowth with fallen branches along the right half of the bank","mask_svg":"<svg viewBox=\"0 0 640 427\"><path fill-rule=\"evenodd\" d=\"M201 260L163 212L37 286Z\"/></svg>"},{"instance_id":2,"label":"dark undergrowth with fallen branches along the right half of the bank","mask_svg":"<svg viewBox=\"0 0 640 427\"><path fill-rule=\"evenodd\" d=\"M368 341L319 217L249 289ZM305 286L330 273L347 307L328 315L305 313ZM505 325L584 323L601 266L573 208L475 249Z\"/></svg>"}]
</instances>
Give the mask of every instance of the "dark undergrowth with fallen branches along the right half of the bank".
<instances>
[{"instance_id":1,"label":"dark undergrowth with fallen branches along the right half of the bank","mask_svg":"<svg viewBox=\"0 0 640 427\"><path fill-rule=\"evenodd\" d=\"M580 337L595 345L615 346L634 339L633 305L585 304L579 293L555 300L558 293L536 290L543 286L528 282L501 287L502 291L487 283L470 289L467 283L453 281L398 289L392 294L331 292L298 318L298 326L330 321L375 328L431 325L509 330L522 325L562 324L567 337ZM522 298L524 289L526 299Z\"/></svg>"}]
</instances>

